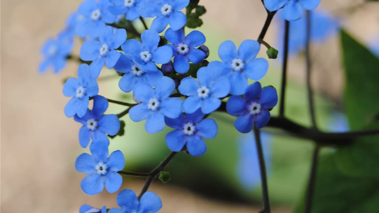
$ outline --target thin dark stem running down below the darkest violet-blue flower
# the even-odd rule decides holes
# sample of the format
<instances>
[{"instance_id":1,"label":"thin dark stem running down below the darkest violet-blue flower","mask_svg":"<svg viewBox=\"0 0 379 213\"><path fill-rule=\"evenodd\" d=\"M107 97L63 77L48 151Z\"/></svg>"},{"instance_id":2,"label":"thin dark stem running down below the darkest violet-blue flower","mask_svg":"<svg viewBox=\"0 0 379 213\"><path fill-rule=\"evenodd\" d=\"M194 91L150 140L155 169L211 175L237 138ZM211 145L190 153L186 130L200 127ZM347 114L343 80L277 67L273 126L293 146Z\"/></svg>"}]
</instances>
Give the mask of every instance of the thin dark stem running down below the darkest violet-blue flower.
<instances>
[{"instance_id":1,"label":"thin dark stem running down below the darkest violet-blue flower","mask_svg":"<svg viewBox=\"0 0 379 213\"><path fill-rule=\"evenodd\" d=\"M258 158L259 158L259 169L260 169L260 173L261 173L261 182L262 182L263 210L261 212L270 213L270 202L269 202L269 198L268 198L265 158L263 156L262 143L260 140L260 132L255 127L254 127L254 136L255 136L255 141L257 143L257 151L258 151Z\"/></svg>"}]
</instances>

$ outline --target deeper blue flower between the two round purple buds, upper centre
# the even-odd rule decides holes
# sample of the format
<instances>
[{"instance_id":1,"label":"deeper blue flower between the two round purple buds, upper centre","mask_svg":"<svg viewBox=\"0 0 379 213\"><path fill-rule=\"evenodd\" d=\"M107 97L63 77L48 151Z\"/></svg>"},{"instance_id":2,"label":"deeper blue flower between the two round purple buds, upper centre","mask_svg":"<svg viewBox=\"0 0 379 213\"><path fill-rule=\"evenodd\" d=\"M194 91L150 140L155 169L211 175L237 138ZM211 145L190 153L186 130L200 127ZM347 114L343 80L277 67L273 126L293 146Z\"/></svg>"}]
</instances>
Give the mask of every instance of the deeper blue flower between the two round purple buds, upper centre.
<instances>
[{"instance_id":1,"label":"deeper blue flower between the two round purple buds, upper centre","mask_svg":"<svg viewBox=\"0 0 379 213\"><path fill-rule=\"evenodd\" d=\"M200 31L194 30L184 38L183 29L177 31L168 28L164 37L171 42L174 51L174 69L178 73L186 73L189 70L189 61L200 63L207 55L196 47L205 43L205 36Z\"/></svg>"}]
</instances>

